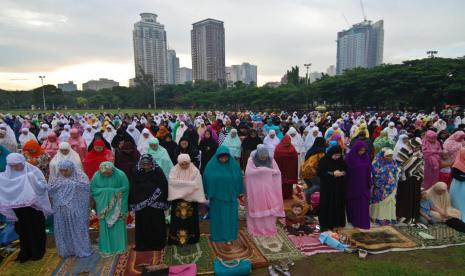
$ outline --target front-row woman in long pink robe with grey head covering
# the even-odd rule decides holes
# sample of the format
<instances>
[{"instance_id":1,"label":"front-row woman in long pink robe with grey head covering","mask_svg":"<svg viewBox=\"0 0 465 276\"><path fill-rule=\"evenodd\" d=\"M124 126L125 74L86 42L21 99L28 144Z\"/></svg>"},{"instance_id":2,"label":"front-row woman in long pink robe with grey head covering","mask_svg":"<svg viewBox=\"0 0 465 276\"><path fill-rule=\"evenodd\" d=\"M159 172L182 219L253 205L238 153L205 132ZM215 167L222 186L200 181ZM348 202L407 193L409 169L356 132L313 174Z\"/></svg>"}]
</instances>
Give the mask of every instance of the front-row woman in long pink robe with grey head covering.
<instances>
[{"instance_id":1,"label":"front-row woman in long pink robe with grey head covering","mask_svg":"<svg viewBox=\"0 0 465 276\"><path fill-rule=\"evenodd\" d=\"M276 236L276 219L285 216L281 172L264 147L258 148L249 158L245 188L247 231L252 236Z\"/></svg>"}]
</instances>

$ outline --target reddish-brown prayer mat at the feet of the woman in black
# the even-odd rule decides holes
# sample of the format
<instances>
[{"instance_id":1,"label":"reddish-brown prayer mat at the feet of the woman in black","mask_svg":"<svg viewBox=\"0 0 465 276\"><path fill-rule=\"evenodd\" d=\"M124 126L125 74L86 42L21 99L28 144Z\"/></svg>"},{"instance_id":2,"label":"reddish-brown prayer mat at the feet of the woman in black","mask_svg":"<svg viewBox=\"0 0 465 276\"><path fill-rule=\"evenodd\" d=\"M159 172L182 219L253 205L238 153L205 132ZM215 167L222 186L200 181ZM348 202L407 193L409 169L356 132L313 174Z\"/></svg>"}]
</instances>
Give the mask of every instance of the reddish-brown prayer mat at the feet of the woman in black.
<instances>
[{"instance_id":1,"label":"reddish-brown prayer mat at the feet of the woman in black","mask_svg":"<svg viewBox=\"0 0 465 276\"><path fill-rule=\"evenodd\" d=\"M164 251L135 251L130 246L128 252L119 255L114 275L141 275L144 267L159 265L163 261Z\"/></svg>"}]
</instances>

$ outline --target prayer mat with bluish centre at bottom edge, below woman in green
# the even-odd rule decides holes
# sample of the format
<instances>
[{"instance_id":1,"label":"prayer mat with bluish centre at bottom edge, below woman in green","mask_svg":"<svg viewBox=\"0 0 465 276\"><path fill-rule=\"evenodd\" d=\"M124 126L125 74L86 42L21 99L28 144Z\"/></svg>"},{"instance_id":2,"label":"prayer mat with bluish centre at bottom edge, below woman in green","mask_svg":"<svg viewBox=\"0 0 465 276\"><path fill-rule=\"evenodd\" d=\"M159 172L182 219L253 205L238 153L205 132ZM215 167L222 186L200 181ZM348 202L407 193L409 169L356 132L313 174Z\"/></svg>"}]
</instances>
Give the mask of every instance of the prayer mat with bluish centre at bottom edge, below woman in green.
<instances>
[{"instance_id":1,"label":"prayer mat with bluish centre at bottom edge, below woman in green","mask_svg":"<svg viewBox=\"0 0 465 276\"><path fill-rule=\"evenodd\" d=\"M118 255L104 258L94 248L92 255L85 258L69 257L62 259L58 267L53 271L54 276L72 276L72 275L103 275L111 276L115 272L118 263ZM50 275L50 274L49 274Z\"/></svg>"}]
</instances>

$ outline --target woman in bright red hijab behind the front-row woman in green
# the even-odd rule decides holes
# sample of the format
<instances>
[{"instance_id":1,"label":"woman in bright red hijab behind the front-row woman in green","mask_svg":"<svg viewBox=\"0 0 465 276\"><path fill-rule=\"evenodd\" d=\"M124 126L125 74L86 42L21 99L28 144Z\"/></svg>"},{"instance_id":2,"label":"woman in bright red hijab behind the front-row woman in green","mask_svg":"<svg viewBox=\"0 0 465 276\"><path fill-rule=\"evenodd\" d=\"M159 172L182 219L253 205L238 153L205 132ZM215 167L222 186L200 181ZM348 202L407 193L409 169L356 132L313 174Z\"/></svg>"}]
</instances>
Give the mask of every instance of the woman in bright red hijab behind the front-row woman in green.
<instances>
[{"instance_id":1,"label":"woman in bright red hijab behind the front-row woman in green","mask_svg":"<svg viewBox=\"0 0 465 276\"><path fill-rule=\"evenodd\" d=\"M103 140L95 141L93 149L87 153L86 158L82 161L82 167L89 179L92 179L94 174L99 170L102 162L113 162L113 152L105 147Z\"/></svg>"}]
</instances>

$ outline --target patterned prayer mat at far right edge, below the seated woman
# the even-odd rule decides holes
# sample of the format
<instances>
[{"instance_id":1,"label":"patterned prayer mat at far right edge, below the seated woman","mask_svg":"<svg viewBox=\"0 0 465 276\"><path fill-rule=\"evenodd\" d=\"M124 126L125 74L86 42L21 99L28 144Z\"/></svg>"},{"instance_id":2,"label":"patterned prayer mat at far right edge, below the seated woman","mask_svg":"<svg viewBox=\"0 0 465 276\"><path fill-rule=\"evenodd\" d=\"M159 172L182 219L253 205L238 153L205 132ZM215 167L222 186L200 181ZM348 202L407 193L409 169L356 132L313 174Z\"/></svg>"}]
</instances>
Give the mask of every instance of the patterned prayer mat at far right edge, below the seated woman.
<instances>
[{"instance_id":1,"label":"patterned prayer mat at far right edge, below the seated woman","mask_svg":"<svg viewBox=\"0 0 465 276\"><path fill-rule=\"evenodd\" d=\"M396 229L421 247L448 247L465 244L465 233L458 232L445 224L428 225L428 229L409 226L397 226ZM432 239L426 238L425 234L432 236Z\"/></svg>"}]
</instances>

